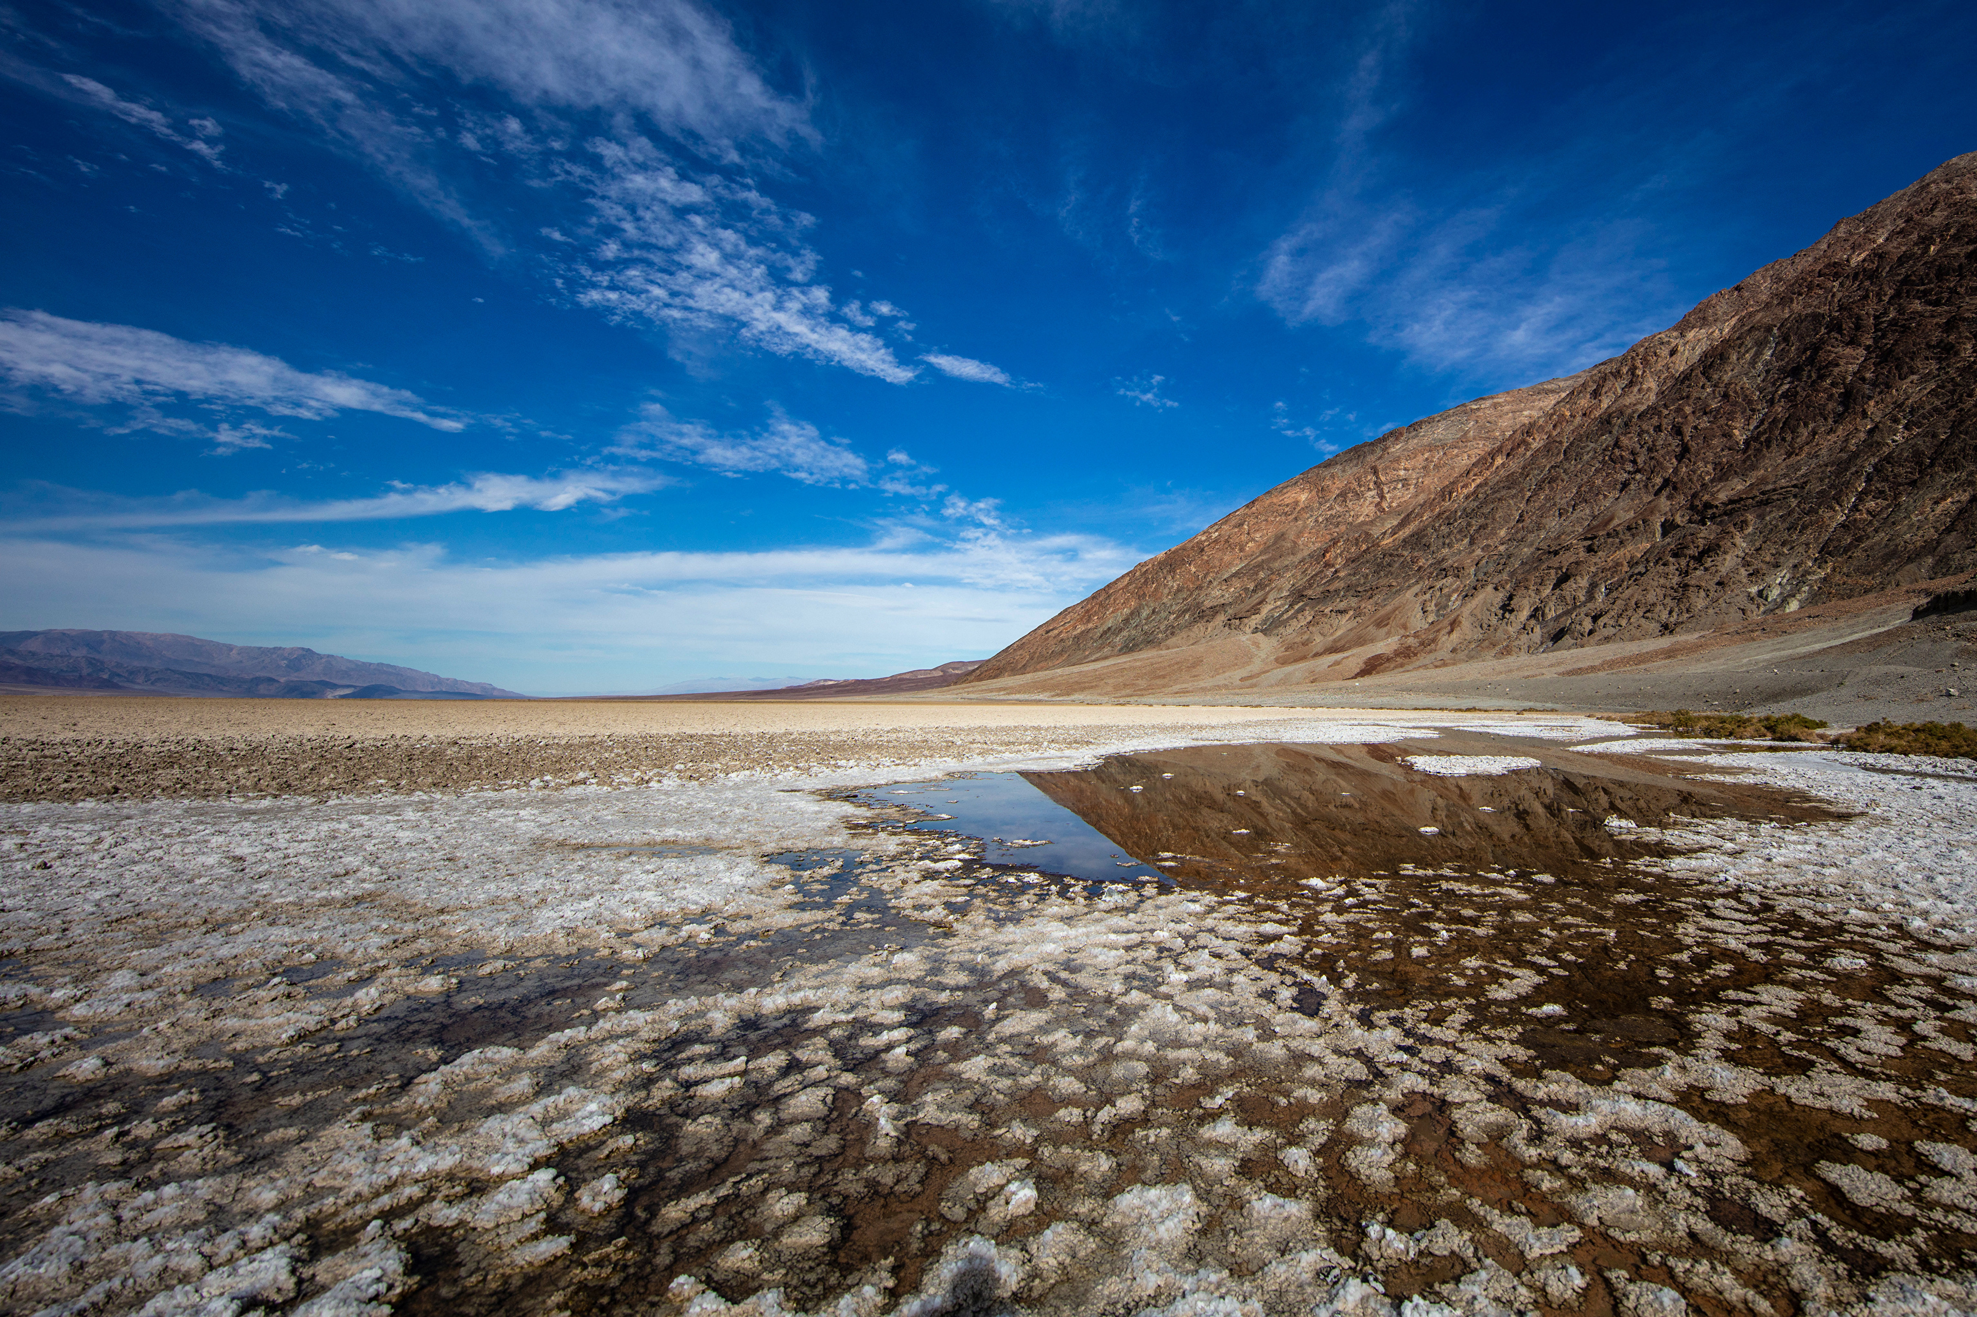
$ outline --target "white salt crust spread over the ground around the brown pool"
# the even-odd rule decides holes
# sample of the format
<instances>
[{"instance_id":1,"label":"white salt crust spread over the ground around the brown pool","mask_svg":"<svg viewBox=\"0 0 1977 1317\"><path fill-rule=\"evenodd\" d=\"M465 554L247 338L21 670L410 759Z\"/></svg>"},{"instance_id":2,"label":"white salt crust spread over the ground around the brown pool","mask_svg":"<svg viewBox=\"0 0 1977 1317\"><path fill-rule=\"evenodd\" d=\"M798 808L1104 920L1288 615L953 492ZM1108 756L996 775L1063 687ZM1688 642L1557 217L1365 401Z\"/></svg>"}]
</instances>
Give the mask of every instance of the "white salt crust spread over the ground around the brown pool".
<instances>
[{"instance_id":1,"label":"white salt crust spread over the ground around the brown pool","mask_svg":"<svg viewBox=\"0 0 1977 1317\"><path fill-rule=\"evenodd\" d=\"M1524 722L1461 726L1534 734ZM1578 740L1609 728L1560 720L1544 734ZM1287 722L1198 740L1340 744L1429 734L1412 720ZM1176 740L1160 732L1117 749ZM1079 749L1036 763L1089 757ZM1748 769L1742 781L1811 791L1866 815L1799 829L1684 823L1665 834L1698 852L1661 864L1860 927L1924 933L1937 947L1928 973L1951 983L1965 975L1977 995L1969 977L1977 961L1967 953L1977 941L1977 777L1916 761L1896 765L1953 781L1862 771L1888 767L1884 759L1712 755L1710 763ZM848 767L834 781L870 781L874 767ZM925 773L943 765L888 767ZM1172 1317L1572 1307L1595 1277L1566 1254L1590 1230L1659 1250L1649 1254L1661 1258L1657 1277L1765 1311L1732 1270L1682 1252L1684 1240L1710 1238L1704 1192L1734 1188L1765 1202L1767 1188L1746 1175L1748 1151L1736 1137L1675 1099L1688 1090L1718 1099L1771 1090L1821 1109L1860 1111L1870 1111L1868 1101L1920 1099L1896 1088L1862 1092L1858 1082L1819 1072L1760 1076L1712 1062L1708 1046L1611 1086L1558 1072L1542 1082L1516 1078L1504 1068L1510 1044L1465 1034L1459 1022L1418 1020L1412 1034L1368 1028L1323 981L1317 1014L1291 1009L1281 979L1249 957L1287 929L1236 902L1044 896L1026 898L1016 922L955 918L951 906L967 892L937 868L943 842L846 834L842 825L858 811L803 791L818 785L832 783L753 775L633 791L0 809L0 929L10 953L38 967L32 983L12 981L0 993L8 1009L53 1016L51 1028L16 1040L0 1060L59 1074L77 1092L129 1078L182 1086L148 1109L38 1129L32 1145L10 1147L8 1179L36 1175L57 1151L95 1159L97 1171L34 1208L40 1236L0 1268L0 1301L40 1313L384 1313L407 1285L411 1260L401 1240L415 1230L453 1232L469 1273L520 1275L571 1262L609 1272L611 1240L639 1228L623 1218L645 1139L629 1131L631 1117L686 1121L684 1155L710 1165L728 1155L735 1131L781 1139L795 1149L789 1165L801 1169L809 1165L805 1139L818 1137L818 1121L844 1094L862 1113L864 1161L878 1175L903 1167L909 1127L988 1141L998 1157L945 1190L943 1216L959 1228L913 1293L894 1293L890 1277L874 1272L818 1313L931 1317L953 1311L957 1293L1000 1295L1036 1311ZM759 856L828 846L882 860L878 882L890 900L947 931L888 955L791 965L747 991L682 995L650 1009L601 999L561 1032L528 1046L482 1046L445 1066L435 1054L368 1096L352 1094L332 1119L299 1119L255 1147L178 1115L194 1109L200 1090L249 1082L229 1056L283 1048L301 1056L297 1044L334 1038L340 1026L397 1003L457 991L476 973L435 967L431 957L471 957L478 971L548 953L637 965L716 929L809 927L820 916L799 910L785 890L789 870ZM259 977L312 959L340 961L366 987L332 997ZM1528 993L1538 979L1516 971L1506 983L1510 993ZM214 985L225 991L204 991ZM990 999L983 1026L967 1036L905 1024ZM1752 1018L1765 1009L1754 1005ZM743 1040L753 1022L783 1016L826 1038L749 1052ZM1872 1040L1872 1030L1862 1036ZM643 1060L682 1044L698 1056ZM949 1078L905 1098L902 1076L935 1062L951 1062ZM1149 1076L1220 1088L1198 1109L1149 1109L1137 1098ZM1542 1103L1538 1115L1489 1101L1485 1082ZM1277 1094L1289 1084L1356 1098L1336 1125L1313 1119L1295 1131L1247 1123L1228 1105L1244 1092ZM1016 1115L1034 1094L1050 1094L1050 1119ZM1419 1230L1376 1218L1342 1252L1321 1244L1313 1212L1325 1188L1309 1179L1317 1155L1344 1147L1342 1165L1360 1185L1392 1186L1410 1165L1410 1123L1396 1115L1410 1096L1449 1103L1463 1147L1493 1139L1514 1151L1534 1185L1572 1204L1574 1220L1536 1226L1469 1198L1465 1208L1491 1222L1491 1248L1445 1218ZM1111 1155L1091 1147L1117 1123L1143 1125L1135 1139L1147 1149L1151 1179L1081 1194L1081 1183L1117 1171ZM1682 1155L1673 1173L1601 1161L1588 1141L1609 1131L1669 1141ZM1841 1163L1823 1175L1848 1200L1977 1212L1977 1159L1951 1143L1930 1143L1924 1155L1941 1173L1928 1183L1874 1179ZM1240 1173L1251 1165L1246 1159L1285 1167L1311 1185L1309 1198L1263 1190ZM664 1210L694 1220L733 1198L759 1210L763 1234L722 1252L710 1272L680 1273L666 1303L704 1317L799 1311L767 1281L801 1275L803 1260L828 1250L842 1222L805 1200L801 1177L787 1186L722 1185L698 1198ZM1052 1224L1022 1234L1036 1220ZM1896 1273L1862 1291L1807 1242L1803 1212L1787 1202L1775 1220L1775 1242L1752 1266L1789 1273L1805 1311L1951 1313L1977 1303L1961 1281L1912 1275L1920 1260L1902 1264L1886 1250ZM1977 1218L1963 1220L1961 1228L1977 1230ZM1510 1252L1501 1256L1520 1260L1518 1270L1499 1264L1504 1246ZM1386 1297L1378 1277L1423 1258L1449 1260L1455 1279L1404 1305ZM728 1303L710 1279L753 1297ZM1597 1279L1627 1313L1684 1311L1661 1279L1627 1272Z\"/></svg>"}]
</instances>

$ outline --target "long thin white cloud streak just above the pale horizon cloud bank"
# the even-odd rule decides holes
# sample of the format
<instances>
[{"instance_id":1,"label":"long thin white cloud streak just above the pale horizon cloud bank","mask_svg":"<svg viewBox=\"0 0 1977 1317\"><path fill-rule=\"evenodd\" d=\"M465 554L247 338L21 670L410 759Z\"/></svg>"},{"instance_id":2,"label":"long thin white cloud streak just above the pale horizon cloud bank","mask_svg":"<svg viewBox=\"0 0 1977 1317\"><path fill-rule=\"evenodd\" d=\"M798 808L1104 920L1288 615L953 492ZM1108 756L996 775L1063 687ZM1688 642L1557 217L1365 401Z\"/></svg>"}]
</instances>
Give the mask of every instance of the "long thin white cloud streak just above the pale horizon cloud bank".
<instances>
[{"instance_id":1,"label":"long thin white cloud streak just above the pale horizon cloud bank","mask_svg":"<svg viewBox=\"0 0 1977 1317\"><path fill-rule=\"evenodd\" d=\"M552 477L480 473L449 484L393 483L368 498L304 502L281 494L212 498L200 492L170 498L109 498L79 490L36 488L36 516L12 516L16 534L75 534L101 530L160 530L176 526L281 526L308 522L382 522L447 512L563 512L585 502L617 502L670 484L645 471L565 471ZM45 508L57 508L47 512Z\"/></svg>"}]
</instances>

